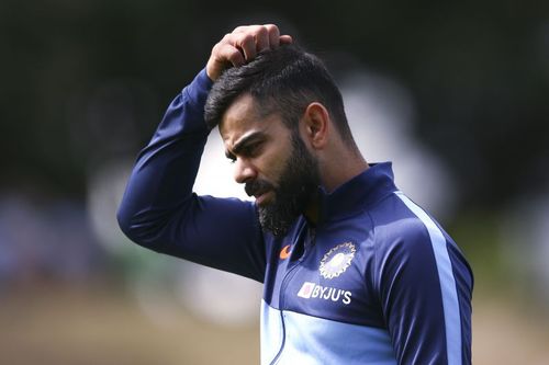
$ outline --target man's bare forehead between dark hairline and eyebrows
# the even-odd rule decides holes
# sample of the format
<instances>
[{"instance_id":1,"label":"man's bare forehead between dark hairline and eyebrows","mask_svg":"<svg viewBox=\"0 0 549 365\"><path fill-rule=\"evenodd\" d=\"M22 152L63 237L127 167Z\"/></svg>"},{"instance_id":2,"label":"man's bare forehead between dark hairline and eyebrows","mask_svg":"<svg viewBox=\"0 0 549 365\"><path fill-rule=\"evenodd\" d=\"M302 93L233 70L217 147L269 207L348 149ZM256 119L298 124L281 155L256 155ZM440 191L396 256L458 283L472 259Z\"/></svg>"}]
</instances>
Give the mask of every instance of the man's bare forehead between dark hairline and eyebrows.
<instances>
[{"instance_id":1,"label":"man's bare forehead between dark hairline and eyebrows","mask_svg":"<svg viewBox=\"0 0 549 365\"><path fill-rule=\"evenodd\" d=\"M220 123L220 133L227 147L249 134L282 133L287 129L277 113L262 115L259 105L249 94L238 96L225 111ZM284 134L282 133L281 136Z\"/></svg>"}]
</instances>

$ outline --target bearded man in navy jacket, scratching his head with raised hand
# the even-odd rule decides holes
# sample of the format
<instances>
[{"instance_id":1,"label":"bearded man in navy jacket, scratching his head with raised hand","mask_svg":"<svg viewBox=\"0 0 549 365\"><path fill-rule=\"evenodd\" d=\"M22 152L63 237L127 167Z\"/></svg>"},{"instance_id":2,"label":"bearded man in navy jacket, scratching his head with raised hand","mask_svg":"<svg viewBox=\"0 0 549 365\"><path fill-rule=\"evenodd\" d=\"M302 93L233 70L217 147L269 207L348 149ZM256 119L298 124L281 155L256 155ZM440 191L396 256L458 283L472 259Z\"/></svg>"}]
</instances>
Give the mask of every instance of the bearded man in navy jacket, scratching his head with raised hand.
<instances>
[{"instance_id":1,"label":"bearded man in navy jacket, scratching his head with raised hand","mask_svg":"<svg viewBox=\"0 0 549 365\"><path fill-rule=\"evenodd\" d=\"M368 164L323 64L274 25L212 49L141 152L119 210L158 252L264 283L261 364L470 364L472 273ZM197 196L219 126L255 203Z\"/></svg>"}]
</instances>

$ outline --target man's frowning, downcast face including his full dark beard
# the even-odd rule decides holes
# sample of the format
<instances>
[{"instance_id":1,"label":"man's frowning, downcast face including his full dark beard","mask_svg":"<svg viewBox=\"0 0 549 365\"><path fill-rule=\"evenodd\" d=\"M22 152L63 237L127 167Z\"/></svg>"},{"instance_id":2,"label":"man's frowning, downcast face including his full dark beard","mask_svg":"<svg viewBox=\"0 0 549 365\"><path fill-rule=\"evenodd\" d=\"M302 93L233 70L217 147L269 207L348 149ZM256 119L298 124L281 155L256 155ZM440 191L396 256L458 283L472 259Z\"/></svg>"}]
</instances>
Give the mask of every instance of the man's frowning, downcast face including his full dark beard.
<instances>
[{"instance_id":1,"label":"man's frowning, downcast face including his full dark beard","mask_svg":"<svg viewBox=\"0 0 549 365\"><path fill-rule=\"evenodd\" d=\"M277 114L261 117L249 95L227 109L220 132L226 156L236 164L236 182L256 197L261 226L283 236L316 194L316 160L298 132Z\"/></svg>"}]
</instances>

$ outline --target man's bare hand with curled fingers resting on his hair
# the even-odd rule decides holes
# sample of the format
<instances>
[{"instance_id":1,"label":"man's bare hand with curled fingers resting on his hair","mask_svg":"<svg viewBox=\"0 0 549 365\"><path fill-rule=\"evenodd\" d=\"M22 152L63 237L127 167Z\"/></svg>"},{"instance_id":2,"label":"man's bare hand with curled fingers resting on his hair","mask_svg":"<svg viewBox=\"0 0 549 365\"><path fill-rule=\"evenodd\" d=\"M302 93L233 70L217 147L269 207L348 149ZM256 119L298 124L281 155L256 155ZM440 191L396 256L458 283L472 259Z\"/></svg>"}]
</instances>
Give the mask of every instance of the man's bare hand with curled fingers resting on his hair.
<instances>
[{"instance_id":1,"label":"man's bare hand with curled fingers resting on his hair","mask_svg":"<svg viewBox=\"0 0 549 365\"><path fill-rule=\"evenodd\" d=\"M242 66L256 58L260 52L290 43L292 37L281 36L274 24L238 26L213 47L206 65L208 76L216 80L224 69Z\"/></svg>"}]
</instances>

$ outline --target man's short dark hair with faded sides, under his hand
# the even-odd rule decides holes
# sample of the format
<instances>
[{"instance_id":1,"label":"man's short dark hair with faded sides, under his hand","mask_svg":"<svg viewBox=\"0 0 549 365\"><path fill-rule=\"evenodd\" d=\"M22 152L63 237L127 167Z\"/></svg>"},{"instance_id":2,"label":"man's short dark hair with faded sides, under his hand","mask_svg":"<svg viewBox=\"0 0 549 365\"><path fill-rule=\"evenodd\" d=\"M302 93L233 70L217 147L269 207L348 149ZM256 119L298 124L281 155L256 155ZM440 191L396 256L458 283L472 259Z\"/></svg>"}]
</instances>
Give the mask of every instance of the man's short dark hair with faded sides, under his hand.
<instances>
[{"instance_id":1,"label":"man's short dark hair with faded sides, under his hand","mask_svg":"<svg viewBox=\"0 0 549 365\"><path fill-rule=\"evenodd\" d=\"M292 130L312 102L328 111L344 140L352 140L341 93L324 64L295 45L283 45L259 54L253 61L233 67L212 87L204 109L210 128L220 124L225 111L243 94L250 94L260 115L280 113Z\"/></svg>"}]
</instances>

